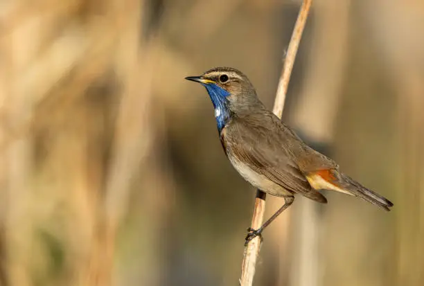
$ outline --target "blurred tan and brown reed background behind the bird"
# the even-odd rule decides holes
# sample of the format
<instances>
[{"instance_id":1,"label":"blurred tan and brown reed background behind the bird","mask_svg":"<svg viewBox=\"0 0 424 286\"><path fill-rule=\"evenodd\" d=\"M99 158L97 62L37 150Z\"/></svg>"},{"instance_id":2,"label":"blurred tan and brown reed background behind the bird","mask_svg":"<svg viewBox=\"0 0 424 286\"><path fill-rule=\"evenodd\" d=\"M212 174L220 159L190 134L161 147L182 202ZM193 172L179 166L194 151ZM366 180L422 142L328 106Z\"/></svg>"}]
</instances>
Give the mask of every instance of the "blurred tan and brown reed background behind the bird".
<instances>
[{"instance_id":1,"label":"blurred tan and brown reed background behind the bird","mask_svg":"<svg viewBox=\"0 0 424 286\"><path fill-rule=\"evenodd\" d=\"M237 285L254 188L184 77L236 67L271 108L299 5L0 1L0 285ZM395 206L299 197L256 285L424 285L423 27L423 1L312 3L283 117Z\"/></svg>"}]
</instances>

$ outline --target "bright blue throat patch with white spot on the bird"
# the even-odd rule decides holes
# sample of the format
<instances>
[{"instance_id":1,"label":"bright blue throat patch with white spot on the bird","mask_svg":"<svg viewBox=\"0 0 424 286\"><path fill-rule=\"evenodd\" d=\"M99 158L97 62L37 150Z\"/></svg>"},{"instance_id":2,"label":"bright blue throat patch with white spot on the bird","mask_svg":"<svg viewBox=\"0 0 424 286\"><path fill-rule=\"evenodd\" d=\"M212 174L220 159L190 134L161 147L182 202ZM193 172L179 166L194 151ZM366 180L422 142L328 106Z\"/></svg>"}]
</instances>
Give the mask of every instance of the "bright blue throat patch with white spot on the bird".
<instances>
[{"instance_id":1,"label":"bright blue throat patch with white spot on the bird","mask_svg":"<svg viewBox=\"0 0 424 286\"><path fill-rule=\"evenodd\" d=\"M215 118L218 124L218 131L221 133L222 128L228 123L230 118L230 111L227 106L227 96L230 95L228 91L218 87L216 84L203 84L209 93L212 100L213 108L215 108Z\"/></svg>"}]
</instances>

